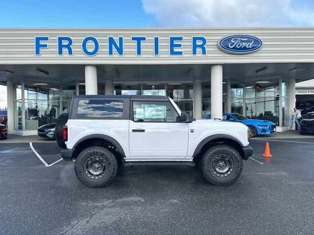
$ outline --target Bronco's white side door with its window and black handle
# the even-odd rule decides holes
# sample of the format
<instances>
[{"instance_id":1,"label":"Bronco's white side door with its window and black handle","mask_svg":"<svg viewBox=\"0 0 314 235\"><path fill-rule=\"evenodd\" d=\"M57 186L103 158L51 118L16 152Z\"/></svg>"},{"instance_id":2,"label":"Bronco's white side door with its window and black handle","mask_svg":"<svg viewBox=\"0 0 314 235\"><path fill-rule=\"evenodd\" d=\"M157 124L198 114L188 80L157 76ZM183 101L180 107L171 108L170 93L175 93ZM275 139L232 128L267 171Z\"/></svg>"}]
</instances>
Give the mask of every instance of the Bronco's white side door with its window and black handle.
<instances>
[{"instance_id":1,"label":"Bronco's white side door with its window and black handle","mask_svg":"<svg viewBox=\"0 0 314 235\"><path fill-rule=\"evenodd\" d=\"M166 160L185 158L188 126L169 101L132 101L129 126L132 159Z\"/></svg>"}]
</instances>

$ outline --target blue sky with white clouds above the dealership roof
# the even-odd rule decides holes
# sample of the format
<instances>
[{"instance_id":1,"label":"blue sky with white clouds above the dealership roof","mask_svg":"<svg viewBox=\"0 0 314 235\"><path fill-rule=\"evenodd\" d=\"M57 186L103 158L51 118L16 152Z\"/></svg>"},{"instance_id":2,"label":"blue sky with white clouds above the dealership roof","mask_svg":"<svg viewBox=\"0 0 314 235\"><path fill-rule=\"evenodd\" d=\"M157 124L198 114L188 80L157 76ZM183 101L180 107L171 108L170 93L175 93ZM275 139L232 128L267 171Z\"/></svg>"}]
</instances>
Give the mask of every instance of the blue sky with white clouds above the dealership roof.
<instances>
[{"instance_id":1,"label":"blue sky with white clouds above the dealership roof","mask_svg":"<svg viewBox=\"0 0 314 235\"><path fill-rule=\"evenodd\" d=\"M14 0L1 9L0 27L314 26L314 0Z\"/></svg>"}]
</instances>

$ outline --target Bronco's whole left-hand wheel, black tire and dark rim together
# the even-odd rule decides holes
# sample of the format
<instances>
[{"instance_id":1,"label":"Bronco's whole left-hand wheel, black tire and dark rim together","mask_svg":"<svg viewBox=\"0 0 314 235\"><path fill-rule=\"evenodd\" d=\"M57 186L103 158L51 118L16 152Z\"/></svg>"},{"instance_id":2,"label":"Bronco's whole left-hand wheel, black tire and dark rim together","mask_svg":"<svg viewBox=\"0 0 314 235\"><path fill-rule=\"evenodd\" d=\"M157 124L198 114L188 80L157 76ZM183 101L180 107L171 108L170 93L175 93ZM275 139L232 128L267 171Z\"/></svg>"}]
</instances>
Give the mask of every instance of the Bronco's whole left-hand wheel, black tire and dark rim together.
<instances>
[{"instance_id":1,"label":"Bronco's whole left-hand wheel, black tire and dark rim together","mask_svg":"<svg viewBox=\"0 0 314 235\"><path fill-rule=\"evenodd\" d=\"M104 147L89 147L78 154L74 164L78 180L91 188L108 185L116 176L118 163L114 154Z\"/></svg>"}]
</instances>

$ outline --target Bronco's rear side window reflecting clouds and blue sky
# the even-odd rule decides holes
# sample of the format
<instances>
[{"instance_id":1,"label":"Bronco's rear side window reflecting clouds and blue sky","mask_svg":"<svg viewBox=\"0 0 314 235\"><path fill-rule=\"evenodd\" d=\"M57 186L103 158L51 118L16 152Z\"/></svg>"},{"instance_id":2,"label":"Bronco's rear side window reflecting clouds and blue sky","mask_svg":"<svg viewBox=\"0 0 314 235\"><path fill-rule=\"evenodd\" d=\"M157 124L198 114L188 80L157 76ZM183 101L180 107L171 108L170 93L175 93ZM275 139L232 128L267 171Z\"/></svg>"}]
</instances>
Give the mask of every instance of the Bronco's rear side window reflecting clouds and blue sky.
<instances>
[{"instance_id":1,"label":"Bronco's rear side window reflecting clouds and blue sky","mask_svg":"<svg viewBox=\"0 0 314 235\"><path fill-rule=\"evenodd\" d=\"M78 101L78 118L122 118L123 100L90 99Z\"/></svg>"}]
</instances>

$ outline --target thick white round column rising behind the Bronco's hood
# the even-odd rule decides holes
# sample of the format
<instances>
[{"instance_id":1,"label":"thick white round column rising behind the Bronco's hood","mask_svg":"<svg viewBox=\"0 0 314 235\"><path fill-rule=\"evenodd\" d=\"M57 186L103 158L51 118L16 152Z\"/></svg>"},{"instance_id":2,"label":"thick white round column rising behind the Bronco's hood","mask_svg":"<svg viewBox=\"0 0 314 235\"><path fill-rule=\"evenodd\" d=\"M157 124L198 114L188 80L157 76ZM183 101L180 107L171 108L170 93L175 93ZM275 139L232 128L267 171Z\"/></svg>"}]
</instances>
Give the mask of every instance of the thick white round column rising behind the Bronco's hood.
<instances>
[{"instance_id":1,"label":"thick white round column rising behind the Bronco's hood","mask_svg":"<svg viewBox=\"0 0 314 235\"><path fill-rule=\"evenodd\" d=\"M212 65L210 72L211 119L222 119L222 65Z\"/></svg>"}]
</instances>

